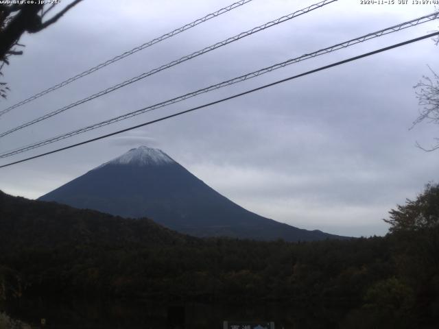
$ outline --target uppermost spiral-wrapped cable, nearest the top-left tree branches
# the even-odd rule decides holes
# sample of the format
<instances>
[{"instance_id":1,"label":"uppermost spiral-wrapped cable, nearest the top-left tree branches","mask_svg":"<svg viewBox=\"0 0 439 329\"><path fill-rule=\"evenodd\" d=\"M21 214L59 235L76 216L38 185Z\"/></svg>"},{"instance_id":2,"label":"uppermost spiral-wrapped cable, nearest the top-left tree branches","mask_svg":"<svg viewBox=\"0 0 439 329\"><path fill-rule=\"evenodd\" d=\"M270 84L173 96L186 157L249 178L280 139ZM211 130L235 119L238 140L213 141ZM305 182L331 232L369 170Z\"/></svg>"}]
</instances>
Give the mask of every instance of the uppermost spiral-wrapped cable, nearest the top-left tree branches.
<instances>
[{"instance_id":1,"label":"uppermost spiral-wrapped cable, nearest the top-left tree branches","mask_svg":"<svg viewBox=\"0 0 439 329\"><path fill-rule=\"evenodd\" d=\"M241 5L244 5L250 1L253 0L241 0L237 1L235 3L232 3L231 5L228 5L227 7L221 8L220 10L217 10L216 12L212 12L211 14L207 14L206 16L202 17L201 19L196 19L195 21L191 23L187 23L186 25L183 25L182 27L178 27L178 29L174 29L174 31L168 32L167 34L163 34L163 36L159 36L158 38L152 39L148 42L145 42L143 45L140 45L138 47L134 47L133 49L126 51L125 53L122 53L121 55L115 56L111 58L110 60L106 60L105 62L102 62L101 64L98 64L97 66L93 66L91 69L88 69L82 73L79 73L78 75L75 75L74 77L70 77L67 80L64 80L63 82L60 82L59 84L56 84L55 86L52 86L50 88L47 88L40 93L37 93L27 99L24 99L23 101L20 101L19 103L16 103L8 108L5 108L4 110L0 111L0 117L1 115L10 112L10 110L13 110L14 108L18 108L19 106L22 106L25 103L29 103L29 101L33 101L34 99L37 99L43 95L46 95L48 93L51 93L54 90L57 90L59 88L62 88L64 86L67 86L67 84L70 84L71 82L80 79L81 77L85 77L86 75L89 75L99 69L104 68L105 66L108 66L114 62L117 62L118 60L121 60L122 58L126 58L128 56L131 56L133 53L137 53L137 51L141 51L147 47L151 47L152 45L155 45L158 42L161 42L163 40L166 40L167 38L171 38L172 36L176 36L177 34L180 34L182 32L185 32L187 29L191 29L192 27L195 27L201 23L204 23L206 21L209 21L210 19L214 19L217 16L220 16L222 14L225 14L226 12L230 12L230 10L233 10L235 8L240 7Z\"/></svg>"}]
</instances>

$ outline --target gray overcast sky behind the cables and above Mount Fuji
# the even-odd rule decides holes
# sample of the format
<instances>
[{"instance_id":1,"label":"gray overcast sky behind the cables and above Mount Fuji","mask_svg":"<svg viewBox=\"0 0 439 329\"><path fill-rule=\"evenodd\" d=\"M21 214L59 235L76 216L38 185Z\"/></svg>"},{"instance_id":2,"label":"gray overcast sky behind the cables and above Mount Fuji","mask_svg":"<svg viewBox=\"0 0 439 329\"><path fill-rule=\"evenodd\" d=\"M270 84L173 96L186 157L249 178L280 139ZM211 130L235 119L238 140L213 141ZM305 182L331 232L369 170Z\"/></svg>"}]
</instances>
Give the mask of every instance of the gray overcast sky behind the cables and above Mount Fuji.
<instances>
[{"instance_id":1,"label":"gray overcast sky behind the cables and above Mount Fuji","mask_svg":"<svg viewBox=\"0 0 439 329\"><path fill-rule=\"evenodd\" d=\"M110 95L0 139L7 151L152 105L288 58L434 12L434 5L361 5L340 0L206 53ZM412 2L411 0L409 1ZM232 0L85 0L56 25L21 39L5 71L0 108L232 3ZM313 1L254 0L73 82L0 118L3 132L41 114L244 32ZM438 29L438 21L287 66L263 77L2 159L0 164L186 110L290 75ZM198 178L260 215L335 234L385 234L382 219L427 182L439 151L424 152L439 127L418 125L413 86L439 71L431 40L302 77L69 151L0 169L0 188L36 198L139 145L163 149Z\"/></svg>"}]
</instances>

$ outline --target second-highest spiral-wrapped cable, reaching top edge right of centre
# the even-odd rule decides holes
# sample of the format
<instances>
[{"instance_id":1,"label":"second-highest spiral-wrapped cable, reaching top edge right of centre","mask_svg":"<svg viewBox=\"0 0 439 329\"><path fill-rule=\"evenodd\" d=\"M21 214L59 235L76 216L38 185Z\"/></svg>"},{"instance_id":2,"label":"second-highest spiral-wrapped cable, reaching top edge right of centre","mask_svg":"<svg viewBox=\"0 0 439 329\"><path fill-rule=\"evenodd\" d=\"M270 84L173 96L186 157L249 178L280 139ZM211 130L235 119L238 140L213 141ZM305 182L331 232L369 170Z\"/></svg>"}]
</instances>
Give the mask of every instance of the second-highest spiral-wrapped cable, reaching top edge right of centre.
<instances>
[{"instance_id":1,"label":"second-highest spiral-wrapped cable, reaching top edge right of centre","mask_svg":"<svg viewBox=\"0 0 439 329\"><path fill-rule=\"evenodd\" d=\"M78 105L80 105L82 103L86 103L87 101L91 101L92 99L95 99L97 97L104 96L104 95L106 95L108 93L111 93L112 91L115 91L115 90L117 90L119 88L122 88L124 86L128 86L129 84L132 84L134 82L142 80L145 77L149 77L150 75L154 75L154 74L156 74L156 73L158 73L160 71L163 71L165 69L169 69L172 66L180 64L180 63L185 62L187 60L191 60L192 58L200 56L200 55L202 55L204 53L207 53L209 51L212 51L212 50L217 49L219 47L222 47L224 45L228 45L229 43L235 42L237 40L240 40L241 38L245 38L246 36L250 36L250 35L255 34L257 32L261 32L264 29L268 29L269 27L272 27L274 25L278 25L280 23L284 23L285 21L289 21L290 19L294 19L295 17L300 16L302 14L307 14L308 12L311 12L312 10L316 10L318 8L322 8L324 5L328 5L329 3L333 3L335 1L337 1L337 0L324 0L324 1L321 1L319 3L315 3L313 5L310 5L307 8L304 8L304 9L298 10L296 12L293 12L292 14L288 14L286 16L282 16L281 18L276 19L274 21L270 21L270 22L265 23L263 25L259 25L257 27L252 28L252 29L249 29L246 32L241 32L240 34L237 34L236 36L232 36L230 38L227 38L226 40L223 40L221 42L217 42L217 43L215 43L215 45L211 45L211 46L206 47L206 48L204 48L202 50L195 51L194 53L191 53L190 55L183 56L182 58L180 58L178 60L173 60L172 62L169 62L169 63L167 63L165 65L159 66L156 69L152 69L151 71L142 73L141 75L138 75L137 77L132 77L129 80L121 82L120 84L117 84L115 86L111 86L110 88L106 88L105 90L102 90L99 93L95 93L95 94L93 94L91 96L88 96L88 97L86 97L84 99L80 99L79 101L75 101L74 103L71 103L68 106L64 106L63 108L60 108L58 110L54 110L53 112L45 114L42 117L39 117L39 118L34 119L32 121L29 121L27 123L23 123L22 125L19 125L18 127L14 127L11 130L8 130L7 132L1 133L0 134L0 138L3 137L3 136L6 136L8 134L12 134L12 132L16 132L17 130L21 130L24 127L28 127L29 125L33 125L34 123L38 123L38 122L43 121L45 119L49 119L50 117L54 117L56 114L60 114L60 113L62 113L64 111L69 110L70 108L78 106Z\"/></svg>"}]
</instances>

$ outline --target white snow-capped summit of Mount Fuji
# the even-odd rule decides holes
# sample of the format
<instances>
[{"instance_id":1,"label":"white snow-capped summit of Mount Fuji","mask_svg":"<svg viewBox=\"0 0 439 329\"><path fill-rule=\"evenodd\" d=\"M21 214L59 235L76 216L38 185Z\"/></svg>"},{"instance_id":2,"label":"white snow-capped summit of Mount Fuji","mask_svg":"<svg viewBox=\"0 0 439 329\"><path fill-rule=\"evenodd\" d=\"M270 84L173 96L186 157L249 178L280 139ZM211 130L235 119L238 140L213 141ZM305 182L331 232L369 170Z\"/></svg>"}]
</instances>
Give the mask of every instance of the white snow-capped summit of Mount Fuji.
<instances>
[{"instance_id":1,"label":"white snow-capped summit of Mount Fuji","mask_svg":"<svg viewBox=\"0 0 439 329\"><path fill-rule=\"evenodd\" d=\"M172 163L171 159L161 149L154 149L152 147L140 146L137 149L130 149L130 151L121 156L106 162L106 164L136 164L144 166L148 164L165 164Z\"/></svg>"}]
</instances>

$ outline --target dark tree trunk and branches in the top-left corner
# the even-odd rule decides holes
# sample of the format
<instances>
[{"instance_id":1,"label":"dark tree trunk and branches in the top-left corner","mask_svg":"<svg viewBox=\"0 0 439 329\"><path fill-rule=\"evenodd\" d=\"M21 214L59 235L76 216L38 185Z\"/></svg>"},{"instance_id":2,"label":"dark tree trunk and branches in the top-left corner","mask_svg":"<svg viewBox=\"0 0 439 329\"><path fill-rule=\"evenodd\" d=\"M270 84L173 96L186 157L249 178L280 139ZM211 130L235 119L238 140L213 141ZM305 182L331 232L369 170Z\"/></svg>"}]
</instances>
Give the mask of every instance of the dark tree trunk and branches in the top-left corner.
<instances>
[{"instance_id":1,"label":"dark tree trunk and branches in the top-left corner","mask_svg":"<svg viewBox=\"0 0 439 329\"><path fill-rule=\"evenodd\" d=\"M71 1L60 10L59 1L56 3L1 3L0 4L0 75L4 64L9 64L10 56L21 55L24 47L19 44L21 36L25 33L36 33L58 21L66 12L71 10L82 0ZM47 2L47 1L46 1ZM53 14L53 15L51 15ZM50 16L51 15L51 16ZM50 18L47 18L50 16ZM6 82L0 83L0 96L5 98L9 88Z\"/></svg>"}]
</instances>

